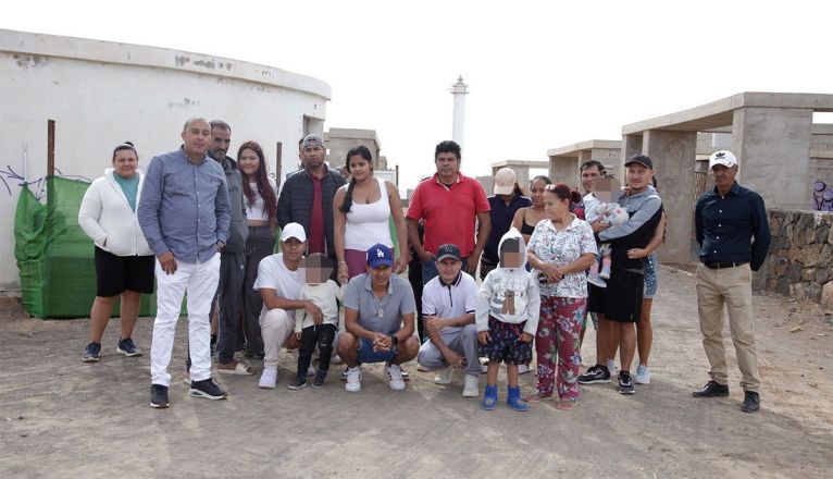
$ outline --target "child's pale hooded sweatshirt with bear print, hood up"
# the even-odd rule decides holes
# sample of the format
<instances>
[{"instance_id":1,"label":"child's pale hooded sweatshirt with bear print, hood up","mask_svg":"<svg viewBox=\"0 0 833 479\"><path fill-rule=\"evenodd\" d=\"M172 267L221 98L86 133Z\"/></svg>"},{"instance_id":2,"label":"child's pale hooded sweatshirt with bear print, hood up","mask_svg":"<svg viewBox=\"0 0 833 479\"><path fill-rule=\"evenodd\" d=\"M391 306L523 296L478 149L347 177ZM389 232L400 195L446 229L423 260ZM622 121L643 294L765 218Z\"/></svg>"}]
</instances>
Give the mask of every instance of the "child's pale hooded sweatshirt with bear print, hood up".
<instances>
[{"instance_id":1,"label":"child's pale hooded sweatshirt with bear print, hood up","mask_svg":"<svg viewBox=\"0 0 833 479\"><path fill-rule=\"evenodd\" d=\"M503 242L514 237L521 247L521 266L519 268L503 268L498 266L489 271L481 284L477 294L477 304L474 311L474 322L477 332L488 331L489 316L501 322L520 324L526 321L523 332L535 336L538 331L538 315L540 312L540 293L538 281L524 268L526 265L526 243L521 233L514 228L500 238L498 255ZM507 297L512 302L506 305Z\"/></svg>"}]
</instances>

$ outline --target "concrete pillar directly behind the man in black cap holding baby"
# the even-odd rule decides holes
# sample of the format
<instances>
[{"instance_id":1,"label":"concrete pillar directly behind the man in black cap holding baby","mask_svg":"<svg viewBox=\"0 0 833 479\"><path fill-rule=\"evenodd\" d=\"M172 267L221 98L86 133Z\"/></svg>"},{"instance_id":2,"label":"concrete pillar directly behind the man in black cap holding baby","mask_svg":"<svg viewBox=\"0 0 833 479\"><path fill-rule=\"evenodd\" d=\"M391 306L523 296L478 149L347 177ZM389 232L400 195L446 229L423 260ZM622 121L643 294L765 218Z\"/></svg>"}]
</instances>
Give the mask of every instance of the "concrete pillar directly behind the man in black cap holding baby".
<instances>
[{"instance_id":1,"label":"concrete pillar directly behind the man in black cap holding baby","mask_svg":"<svg viewBox=\"0 0 833 479\"><path fill-rule=\"evenodd\" d=\"M658 250L662 262L692 260L694 225L694 160L697 132L649 130L644 133L643 153L650 157L666 209L666 243Z\"/></svg>"}]
</instances>

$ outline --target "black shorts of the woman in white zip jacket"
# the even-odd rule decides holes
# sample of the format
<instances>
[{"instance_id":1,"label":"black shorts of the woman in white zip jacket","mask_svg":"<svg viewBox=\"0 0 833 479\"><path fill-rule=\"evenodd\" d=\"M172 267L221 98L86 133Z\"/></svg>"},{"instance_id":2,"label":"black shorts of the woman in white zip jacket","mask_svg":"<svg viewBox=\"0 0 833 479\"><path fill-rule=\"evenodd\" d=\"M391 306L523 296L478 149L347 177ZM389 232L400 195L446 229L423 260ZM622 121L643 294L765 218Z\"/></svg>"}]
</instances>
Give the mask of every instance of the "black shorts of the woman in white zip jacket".
<instances>
[{"instance_id":1,"label":"black shorts of the woman in white zip jacket","mask_svg":"<svg viewBox=\"0 0 833 479\"><path fill-rule=\"evenodd\" d=\"M96 296L117 296L125 290L153 293L153 268L150 256L116 256L96 246Z\"/></svg>"}]
</instances>

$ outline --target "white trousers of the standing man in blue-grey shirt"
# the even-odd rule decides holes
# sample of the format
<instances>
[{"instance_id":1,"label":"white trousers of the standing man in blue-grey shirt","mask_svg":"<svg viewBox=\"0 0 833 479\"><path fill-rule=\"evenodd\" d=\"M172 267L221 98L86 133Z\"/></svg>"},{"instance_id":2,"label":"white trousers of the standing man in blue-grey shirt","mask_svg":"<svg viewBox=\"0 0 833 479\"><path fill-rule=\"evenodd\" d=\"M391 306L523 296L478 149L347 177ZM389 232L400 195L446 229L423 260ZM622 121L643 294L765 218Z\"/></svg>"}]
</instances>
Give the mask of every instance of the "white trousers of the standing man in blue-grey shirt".
<instances>
[{"instance_id":1,"label":"white trousers of the standing man in blue-grey shirt","mask_svg":"<svg viewBox=\"0 0 833 479\"><path fill-rule=\"evenodd\" d=\"M176 321L183 296L188 293L188 347L191 381L211 378L211 320L209 311L220 280L220 254L206 262L176 262L176 272L166 274L157 260L157 319L150 344L150 382L171 385L167 366L174 348Z\"/></svg>"}]
</instances>

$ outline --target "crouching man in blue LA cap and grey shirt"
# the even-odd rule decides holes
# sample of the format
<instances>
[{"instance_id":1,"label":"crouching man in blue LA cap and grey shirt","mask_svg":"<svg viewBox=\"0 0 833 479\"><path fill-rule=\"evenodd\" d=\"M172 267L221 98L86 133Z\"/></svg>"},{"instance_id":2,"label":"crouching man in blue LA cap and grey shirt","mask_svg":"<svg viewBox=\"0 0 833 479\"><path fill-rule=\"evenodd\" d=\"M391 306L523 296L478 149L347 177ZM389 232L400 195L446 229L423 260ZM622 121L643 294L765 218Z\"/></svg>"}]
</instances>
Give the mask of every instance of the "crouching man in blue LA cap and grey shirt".
<instances>
[{"instance_id":1,"label":"crouching man in blue LA cap and grey shirt","mask_svg":"<svg viewBox=\"0 0 833 479\"><path fill-rule=\"evenodd\" d=\"M345 330L338 335L338 356L347 364L348 392L361 391L361 364L387 361L388 386L405 389L400 365L414 357L420 342L413 335L416 303L411 284L393 274L394 251L376 244L368 249L368 272L345 290Z\"/></svg>"}]
</instances>

